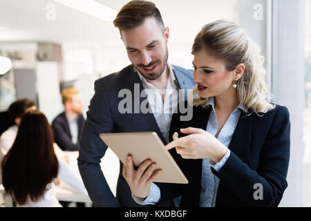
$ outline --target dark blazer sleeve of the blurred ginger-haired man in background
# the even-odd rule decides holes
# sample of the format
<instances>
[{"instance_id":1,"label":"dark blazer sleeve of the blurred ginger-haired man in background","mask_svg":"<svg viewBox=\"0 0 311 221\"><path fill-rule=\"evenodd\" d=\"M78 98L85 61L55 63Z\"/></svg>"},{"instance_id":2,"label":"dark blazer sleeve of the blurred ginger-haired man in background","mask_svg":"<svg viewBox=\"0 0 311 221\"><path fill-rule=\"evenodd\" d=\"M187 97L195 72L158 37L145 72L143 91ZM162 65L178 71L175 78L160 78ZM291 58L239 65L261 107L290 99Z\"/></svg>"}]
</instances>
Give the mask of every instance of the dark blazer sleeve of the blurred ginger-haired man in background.
<instances>
[{"instance_id":1,"label":"dark blazer sleeve of the blurred ginger-haired man in background","mask_svg":"<svg viewBox=\"0 0 311 221\"><path fill-rule=\"evenodd\" d=\"M64 124L65 122L62 122L60 119L55 119L52 122L55 142L63 151L79 150L79 143L73 144L73 142L71 142L70 135L64 130Z\"/></svg>"}]
</instances>

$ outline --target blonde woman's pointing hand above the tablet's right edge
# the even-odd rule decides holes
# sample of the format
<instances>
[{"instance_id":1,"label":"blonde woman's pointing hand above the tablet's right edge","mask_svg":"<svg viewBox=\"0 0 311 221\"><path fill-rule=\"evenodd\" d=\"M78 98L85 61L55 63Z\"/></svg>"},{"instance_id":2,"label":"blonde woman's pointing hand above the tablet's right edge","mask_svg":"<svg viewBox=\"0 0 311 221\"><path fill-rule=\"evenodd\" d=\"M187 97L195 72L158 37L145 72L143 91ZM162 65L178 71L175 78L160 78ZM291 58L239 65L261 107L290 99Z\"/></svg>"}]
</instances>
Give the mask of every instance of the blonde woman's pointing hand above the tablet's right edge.
<instances>
[{"instance_id":1,"label":"blonde woman's pointing hand above the tablet's right edge","mask_svg":"<svg viewBox=\"0 0 311 221\"><path fill-rule=\"evenodd\" d=\"M184 159L209 158L219 162L227 153L227 147L220 143L216 137L200 128L182 128L181 133L189 134L178 138L178 133L173 134L173 141L165 148L176 148L176 152Z\"/></svg>"}]
</instances>

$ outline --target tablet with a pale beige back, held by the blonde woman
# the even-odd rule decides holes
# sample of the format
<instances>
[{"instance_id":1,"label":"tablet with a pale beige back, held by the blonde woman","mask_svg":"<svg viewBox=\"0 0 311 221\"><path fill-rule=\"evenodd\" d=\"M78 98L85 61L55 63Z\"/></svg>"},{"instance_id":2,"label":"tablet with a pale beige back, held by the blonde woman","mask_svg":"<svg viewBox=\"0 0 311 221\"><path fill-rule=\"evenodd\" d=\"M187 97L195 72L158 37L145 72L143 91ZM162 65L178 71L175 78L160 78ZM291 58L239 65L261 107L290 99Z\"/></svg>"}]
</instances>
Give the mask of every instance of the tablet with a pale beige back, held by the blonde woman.
<instances>
[{"instance_id":1,"label":"tablet with a pale beige back, held by the blonde woman","mask_svg":"<svg viewBox=\"0 0 311 221\"><path fill-rule=\"evenodd\" d=\"M144 160L156 162L156 169L162 169L154 182L187 184L188 180L176 164L173 157L155 132L138 133L102 133L100 138L126 164L126 156L133 156L134 166Z\"/></svg>"}]
</instances>

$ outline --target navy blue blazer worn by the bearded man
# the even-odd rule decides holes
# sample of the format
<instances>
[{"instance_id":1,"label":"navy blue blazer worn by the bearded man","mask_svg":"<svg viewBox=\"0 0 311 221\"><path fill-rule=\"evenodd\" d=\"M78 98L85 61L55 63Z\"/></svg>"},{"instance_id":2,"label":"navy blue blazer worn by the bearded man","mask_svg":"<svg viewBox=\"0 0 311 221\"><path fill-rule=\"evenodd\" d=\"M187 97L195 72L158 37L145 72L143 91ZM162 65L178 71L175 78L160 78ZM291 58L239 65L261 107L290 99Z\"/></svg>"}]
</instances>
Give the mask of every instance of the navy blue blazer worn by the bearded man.
<instances>
[{"instance_id":1,"label":"navy blue blazer worn by the bearded man","mask_svg":"<svg viewBox=\"0 0 311 221\"><path fill-rule=\"evenodd\" d=\"M173 66L173 72L179 88L191 89L194 87L192 70ZM131 197L129 185L122 176L123 166L121 162L117 180L117 199L109 189L100 168L100 161L107 149L106 144L100 139L100 133L154 131L159 135L162 142L166 143L153 113L142 113L141 111L134 113L135 102L142 104L147 99L147 97L137 95L143 89L140 77L132 65L127 66L119 73L113 73L95 81L95 95L91 99L86 121L82 128L77 159L84 186L86 186L88 195L90 195L95 206L141 206ZM128 90L133 96L140 97L140 100L136 101L130 99L133 113L120 113L118 111L119 104L124 99L124 97L118 96L121 90Z\"/></svg>"}]
</instances>

